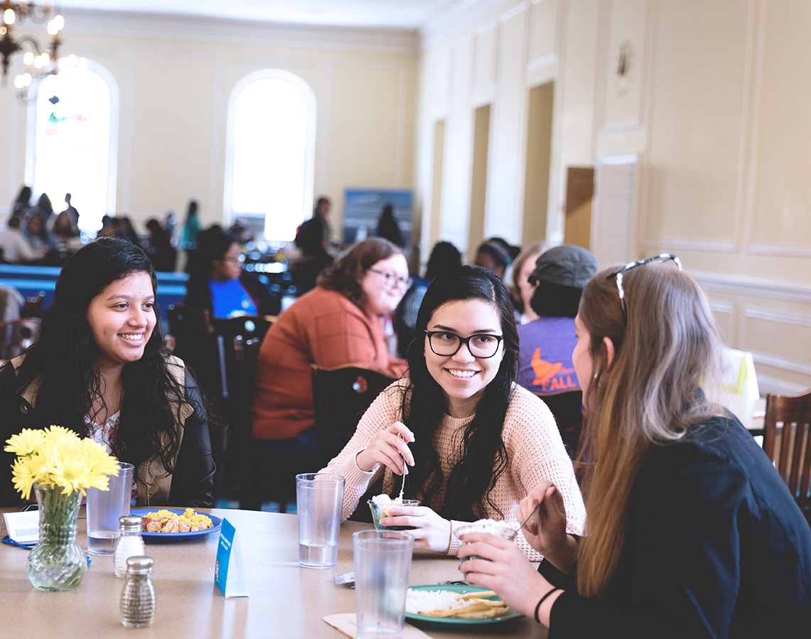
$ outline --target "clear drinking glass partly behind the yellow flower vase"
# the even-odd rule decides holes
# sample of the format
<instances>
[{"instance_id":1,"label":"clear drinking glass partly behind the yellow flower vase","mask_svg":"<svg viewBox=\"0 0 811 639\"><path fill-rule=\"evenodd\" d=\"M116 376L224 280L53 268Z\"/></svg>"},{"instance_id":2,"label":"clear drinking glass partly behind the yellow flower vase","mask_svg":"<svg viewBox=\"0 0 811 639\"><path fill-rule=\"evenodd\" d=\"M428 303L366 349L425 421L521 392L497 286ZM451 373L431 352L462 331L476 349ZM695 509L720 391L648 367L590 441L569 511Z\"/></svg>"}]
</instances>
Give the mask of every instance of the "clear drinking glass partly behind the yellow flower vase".
<instances>
[{"instance_id":1,"label":"clear drinking glass partly behind the yellow flower vase","mask_svg":"<svg viewBox=\"0 0 811 639\"><path fill-rule=\"evenodd\" d=\"M88 552L112 555L118 537L118 517L130 514L135 466L118 464L118 476L110 475L109 491L88 488Z\"/></svg>"}]
</instances>

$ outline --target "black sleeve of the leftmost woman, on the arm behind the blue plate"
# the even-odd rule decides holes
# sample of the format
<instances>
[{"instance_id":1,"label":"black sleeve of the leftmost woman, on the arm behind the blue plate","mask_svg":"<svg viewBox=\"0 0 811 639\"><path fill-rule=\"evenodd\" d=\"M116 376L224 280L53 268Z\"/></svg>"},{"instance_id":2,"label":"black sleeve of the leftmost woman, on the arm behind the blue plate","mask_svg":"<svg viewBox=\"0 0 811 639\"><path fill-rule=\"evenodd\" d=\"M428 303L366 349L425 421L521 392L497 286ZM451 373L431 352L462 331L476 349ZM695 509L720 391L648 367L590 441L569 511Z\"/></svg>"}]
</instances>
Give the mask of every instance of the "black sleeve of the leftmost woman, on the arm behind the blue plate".
<instances>
[{"instance_id":1,"label":"black sleeve of the leftmost woman, on the arm behind the blue plate","mask_svg":"<svg viewBox=\"0 0 811 639\"><path fill-rule=\"evenodd\" d=\"M172 474L169 504L192 508L214 505L214 459L208 435L208 410L186 371L186 401L194 409L183 423L183 440Z\"/></svg>"}]
</instances>

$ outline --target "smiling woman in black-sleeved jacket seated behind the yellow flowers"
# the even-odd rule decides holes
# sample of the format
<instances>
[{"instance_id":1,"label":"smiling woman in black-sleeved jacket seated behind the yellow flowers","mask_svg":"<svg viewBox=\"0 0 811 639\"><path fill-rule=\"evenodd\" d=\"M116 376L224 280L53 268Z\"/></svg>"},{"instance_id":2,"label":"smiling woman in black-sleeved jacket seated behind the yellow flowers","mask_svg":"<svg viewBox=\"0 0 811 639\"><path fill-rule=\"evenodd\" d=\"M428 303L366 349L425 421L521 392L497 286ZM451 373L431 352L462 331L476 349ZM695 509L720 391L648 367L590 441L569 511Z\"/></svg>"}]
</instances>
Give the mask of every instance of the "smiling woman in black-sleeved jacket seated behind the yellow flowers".
<instances>
[{"instance_id":1,"label":"smiling woman in black-sleeved jacket seated behind the yellow flowers","mask_svg":"<svg viewBox=\"0 0 811 639\"><path fill-rule=\"evenodd\" d=\"M58 424L134 464L139 504L212 506L208 414L163 347L156 288L152 262L131 242L101 238L77 251L39 341L0 369L0 437ZM16 504L8 453L0 466L2 504Z\"/></svg>"}]
</instances>

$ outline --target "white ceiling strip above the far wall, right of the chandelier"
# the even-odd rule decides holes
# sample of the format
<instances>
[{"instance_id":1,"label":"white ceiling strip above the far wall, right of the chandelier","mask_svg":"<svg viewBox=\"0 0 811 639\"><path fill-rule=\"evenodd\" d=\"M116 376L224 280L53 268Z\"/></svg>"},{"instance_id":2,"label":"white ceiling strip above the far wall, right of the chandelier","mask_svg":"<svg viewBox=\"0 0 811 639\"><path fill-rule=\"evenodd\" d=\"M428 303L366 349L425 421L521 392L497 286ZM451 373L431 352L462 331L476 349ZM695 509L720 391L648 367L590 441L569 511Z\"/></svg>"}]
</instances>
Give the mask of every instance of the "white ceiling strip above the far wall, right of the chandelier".
<instances>
[{"instance_id":1,"label":"white ceiling strip above the far wall, right of the chandelier","mask_svg":"<svg viewBox=\"0 0 811 639\"><path fill-rule=\"evenodd\" d=\"M62 9L411 31L453 2L457 0L61 0L57 5Z\"/></svg>"}]
</instances>

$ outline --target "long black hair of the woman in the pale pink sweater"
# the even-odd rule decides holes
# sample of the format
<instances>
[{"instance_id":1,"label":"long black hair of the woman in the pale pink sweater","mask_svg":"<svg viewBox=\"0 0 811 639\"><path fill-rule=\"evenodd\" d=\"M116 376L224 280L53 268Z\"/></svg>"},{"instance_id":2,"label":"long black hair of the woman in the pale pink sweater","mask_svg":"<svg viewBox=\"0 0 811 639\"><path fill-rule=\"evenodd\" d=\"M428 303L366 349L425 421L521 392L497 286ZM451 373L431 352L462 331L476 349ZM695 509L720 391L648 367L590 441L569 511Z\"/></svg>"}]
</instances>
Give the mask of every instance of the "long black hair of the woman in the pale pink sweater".
<instances>
[{"instance_id":1,"label":"long black hair of the woman in the pale pink sweater","mask_svg":"<svg viewBox=\"0 0 811 639\"><path fill-rule=\"evenodd\" d=\"M437 308L448 302L468 299L481 299L496 308L504 334L504 358L496 377L487 384L478 402L475 417L465 427L461 460L450 475L444 477L433 440L436 428L448 411L448 401L425 363L425 331ZM421 487L423 505L434 508L442 517L461 521L487 517L485 504L490 504L500 517L504 517L490 494L508 465L501 431L518 360L518 333L513 302L510 302L507 289L486 268L448 268L428 286L414 331L417 337L408 350L410 384L402 398L404 422L414 432L414 442L409 445L419 460L414 468L409 469L410 483ZM438 493L443 485L445 498L441 500Z\"/></svg>"}]
</instances>

